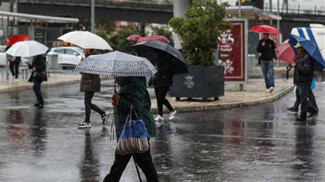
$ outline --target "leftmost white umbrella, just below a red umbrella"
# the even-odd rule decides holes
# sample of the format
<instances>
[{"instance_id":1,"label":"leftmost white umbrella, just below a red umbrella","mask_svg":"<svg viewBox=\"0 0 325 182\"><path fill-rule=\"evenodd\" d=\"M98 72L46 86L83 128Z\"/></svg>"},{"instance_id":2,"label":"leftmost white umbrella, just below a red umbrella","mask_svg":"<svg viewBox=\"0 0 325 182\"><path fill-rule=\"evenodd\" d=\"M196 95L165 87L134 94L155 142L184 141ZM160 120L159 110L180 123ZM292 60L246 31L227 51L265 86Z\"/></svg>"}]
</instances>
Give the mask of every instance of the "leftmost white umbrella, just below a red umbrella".
<instances>
[{"instance_id":1,"label":"leftmost white umbrella, just below a red umbrella","mask_svg":"<svg viewBox=\"0 0 325 182\"><path fill-rule=\"evenodd\" d=\"M34 55L45 54L49 48L35 40L25 40L16 42L5 53L12 56L32 57Z\"/></svg>"}]
</instances>

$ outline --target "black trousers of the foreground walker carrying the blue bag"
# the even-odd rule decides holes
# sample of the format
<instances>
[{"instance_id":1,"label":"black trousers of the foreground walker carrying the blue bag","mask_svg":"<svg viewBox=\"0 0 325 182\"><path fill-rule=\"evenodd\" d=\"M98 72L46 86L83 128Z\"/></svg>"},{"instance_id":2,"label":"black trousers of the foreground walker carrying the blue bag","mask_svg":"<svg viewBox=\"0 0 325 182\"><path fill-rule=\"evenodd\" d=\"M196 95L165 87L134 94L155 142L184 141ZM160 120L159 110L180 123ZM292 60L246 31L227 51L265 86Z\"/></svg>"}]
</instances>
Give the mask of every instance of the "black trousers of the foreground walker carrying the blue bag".
<instances>
[{"instance_id":1,"label":"black trousers of the foreground walker carrying the blue bag","mask_svg":"<svg viewBox=\"0 0 325 182\"><path fill-rule=\"evenodd\" d=\"M138 164L138 166L141 168L143 173L145 173L145 178L147 179L147 181L150 182L159 181L156 168L154 167L154 163L152 162L152 155L150 155L150 147L149 147L149 150L145 153L118 155L117 152L115 151L114 164L112 168L110 168L110 174L106 175L104 182L119 181L131 157L134 158L136 164Z\"/></svg>"}]
</instances>

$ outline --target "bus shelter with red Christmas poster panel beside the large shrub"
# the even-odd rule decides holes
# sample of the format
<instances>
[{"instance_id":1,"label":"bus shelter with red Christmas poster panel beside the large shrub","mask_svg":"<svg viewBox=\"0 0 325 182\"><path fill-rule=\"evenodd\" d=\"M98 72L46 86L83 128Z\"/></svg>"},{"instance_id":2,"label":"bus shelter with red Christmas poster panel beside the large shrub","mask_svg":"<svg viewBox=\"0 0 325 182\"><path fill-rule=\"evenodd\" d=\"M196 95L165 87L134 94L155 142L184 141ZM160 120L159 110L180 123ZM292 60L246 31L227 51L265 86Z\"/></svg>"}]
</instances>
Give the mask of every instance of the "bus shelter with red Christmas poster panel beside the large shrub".
<instances>
[{"instance_id":1,"label":"bus shelter with red Christmas poster panel beside the large shrub","mask_svg":"<svg viewBox=\"0 0 325 182\"><path fill-rule=\"evenodd\" d=\"M225 66L226 83L237 83L240 90L248 82L248 74L254 75L258 34L248 34L248 29L258 24L280 21L281 16L266 12L252 5L230 6L226 8L232 29L221 32L217 50L218 63ZM275 39L276 37L274 37Z\"/></svg>"}]
</instances>

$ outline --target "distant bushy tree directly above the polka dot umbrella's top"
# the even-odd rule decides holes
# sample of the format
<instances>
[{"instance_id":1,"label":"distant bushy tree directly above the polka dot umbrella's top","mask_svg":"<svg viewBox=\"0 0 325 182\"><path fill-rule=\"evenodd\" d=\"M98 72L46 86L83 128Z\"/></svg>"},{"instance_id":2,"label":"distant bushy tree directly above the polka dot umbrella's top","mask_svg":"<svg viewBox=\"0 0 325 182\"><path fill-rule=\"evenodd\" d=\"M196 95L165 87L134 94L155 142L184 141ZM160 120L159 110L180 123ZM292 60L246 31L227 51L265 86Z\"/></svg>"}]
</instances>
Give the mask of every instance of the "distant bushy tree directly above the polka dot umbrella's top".
<instances>
[{"instance_id":1,"label":"distant bushy tree directly above the polka dot umbrella's top","mask_svg":"<svg viewBox=\"0 0 325 182\"><path fill-rule=\"evenodd\" d=\"M136 31L134 29L121 29L117 31L117 34L115 36L112 36L112 38L110 38L110 42L119 47L120 51L130 53L132 51L131 45L135 44L136 42L129 41L126 38L133 34L136 34Z\"/></svg>"}]
</instances>

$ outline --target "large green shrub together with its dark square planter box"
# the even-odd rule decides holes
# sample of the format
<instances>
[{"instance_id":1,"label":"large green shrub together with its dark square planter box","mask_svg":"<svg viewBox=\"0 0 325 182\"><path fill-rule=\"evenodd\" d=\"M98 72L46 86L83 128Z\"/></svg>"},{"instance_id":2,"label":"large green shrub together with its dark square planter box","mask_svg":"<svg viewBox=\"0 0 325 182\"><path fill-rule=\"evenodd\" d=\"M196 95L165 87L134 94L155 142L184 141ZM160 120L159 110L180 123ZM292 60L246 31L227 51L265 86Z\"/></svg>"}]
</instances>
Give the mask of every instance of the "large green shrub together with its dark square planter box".
<instances>
[{"instance_id":1,"label":"large green shrub together with its dark square planter box","mask_svg":"<svg viewBox=\"0 0 325 182\"><path fill-rule=\"evenodd\" d=\"M220 31L230 29L224 21L228 3L194 0L184 12L186 19L174 17L169 25L182 38L182 53L190 73L173 77L171 96L217 99L224 95L224 66L215 66L214 53Z\"/></svg>"}]
</instances>

